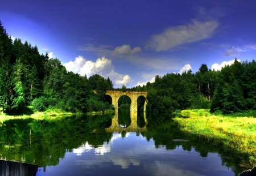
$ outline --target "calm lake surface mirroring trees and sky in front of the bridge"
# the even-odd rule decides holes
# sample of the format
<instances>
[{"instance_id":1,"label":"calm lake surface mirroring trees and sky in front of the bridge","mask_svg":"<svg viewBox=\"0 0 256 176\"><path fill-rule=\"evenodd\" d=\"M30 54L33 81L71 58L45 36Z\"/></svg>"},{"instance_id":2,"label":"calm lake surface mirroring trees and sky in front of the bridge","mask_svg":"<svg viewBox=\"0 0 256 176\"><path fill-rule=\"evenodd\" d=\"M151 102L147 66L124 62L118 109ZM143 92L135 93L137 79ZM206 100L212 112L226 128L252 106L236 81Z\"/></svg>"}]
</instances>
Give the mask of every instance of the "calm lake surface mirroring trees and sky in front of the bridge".
<instances>
[{"instance_id":1,"label":"calm lake surface mirroring trees and sky in front of the bridge","mask_svg":"<svg viewBox=\"0 0 256 176\"><path fill-rule=\"evenodd\" d=\"M113 129L112 118L0 123L0 158L36 164L36 175L239 175L246 170L243 156L218 141L184 134L170 115L148 118L146 127L138 117L140 127L133 131ZM131 122L120 118L119 123Z\"/></svg>"}]
</instances>

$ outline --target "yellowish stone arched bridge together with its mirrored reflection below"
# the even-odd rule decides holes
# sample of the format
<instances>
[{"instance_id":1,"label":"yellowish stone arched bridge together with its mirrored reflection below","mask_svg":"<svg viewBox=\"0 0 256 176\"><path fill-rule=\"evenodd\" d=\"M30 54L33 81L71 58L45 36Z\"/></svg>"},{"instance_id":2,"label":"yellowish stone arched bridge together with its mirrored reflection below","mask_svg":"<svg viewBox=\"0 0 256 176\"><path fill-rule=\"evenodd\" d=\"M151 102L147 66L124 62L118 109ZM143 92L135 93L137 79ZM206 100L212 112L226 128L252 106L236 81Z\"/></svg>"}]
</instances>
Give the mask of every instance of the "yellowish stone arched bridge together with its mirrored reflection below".
<instances>
[{"instance_id":1,"label":"yellowish stone arched bridge together with its mirrored reflection below","mask_svg":"<svg viewBox=\"0 0 256 176\"><path fill-rule=\"evenodd\" d=\"M113 131L146 131L146 125L144 127L139 127L137 125L137 121L138 121L137 101L140 96L143 96L145 98L144 108L143 108L143 118L144 118L145 124L147 124L147 118L146 118L147 92L107 91L106 95L109 95L112 98L112 105L115 108L115 115L112 118L112 125L109 128L105 128L106 131L109 131L109 132L113 132ZM131 105L130 105L131 123L128 127L121 127L118 124L118 100L121 96L128 96L131 99Z\"/></svg>"}]
</instances>

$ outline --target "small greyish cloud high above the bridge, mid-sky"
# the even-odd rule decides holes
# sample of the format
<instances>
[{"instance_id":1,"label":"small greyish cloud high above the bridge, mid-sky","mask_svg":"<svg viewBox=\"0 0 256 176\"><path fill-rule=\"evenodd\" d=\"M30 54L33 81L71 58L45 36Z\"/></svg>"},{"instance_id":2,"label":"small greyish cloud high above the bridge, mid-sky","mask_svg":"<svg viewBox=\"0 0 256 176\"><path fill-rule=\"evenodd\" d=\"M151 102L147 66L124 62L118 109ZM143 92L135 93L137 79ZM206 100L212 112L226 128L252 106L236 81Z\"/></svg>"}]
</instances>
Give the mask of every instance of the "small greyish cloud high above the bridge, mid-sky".
<instances>
[{"instance_id":1,"label":"small greyish cloud high above the bridge, mid-sky","mask_svg":"<svg viewBox=\"0 0 256 176\"><path fill-rule=\"evenodd\" d=\"M113 52L112 55L134 55L136 53L139 53L141 51L141 48L139 46L131 49L130 45L122 45L117 46Z\"/></svg>"}]
</instances>

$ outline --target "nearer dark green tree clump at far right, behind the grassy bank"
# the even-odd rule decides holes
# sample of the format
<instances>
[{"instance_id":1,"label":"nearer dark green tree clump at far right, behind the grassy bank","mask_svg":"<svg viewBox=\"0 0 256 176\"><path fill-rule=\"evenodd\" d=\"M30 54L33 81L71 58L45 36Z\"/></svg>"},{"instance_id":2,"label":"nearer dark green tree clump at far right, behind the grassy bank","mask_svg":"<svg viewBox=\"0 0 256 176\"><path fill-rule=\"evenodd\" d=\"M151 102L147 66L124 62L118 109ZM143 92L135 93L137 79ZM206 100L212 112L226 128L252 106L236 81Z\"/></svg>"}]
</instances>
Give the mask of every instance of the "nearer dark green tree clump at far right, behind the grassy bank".
<instances>
[{"instance_id":1,"label":"nearer dark green tree clump at far right, behind the grassy bank","mask_svg":"<svg viewBox=\"0 0 256 176\"><path fill-rule=\"evenodd\" d=\"M256 100L255 61L222 68L214 92L211 111L222 110L224 114L255 109Z\"/></svg>"}]
</instances>

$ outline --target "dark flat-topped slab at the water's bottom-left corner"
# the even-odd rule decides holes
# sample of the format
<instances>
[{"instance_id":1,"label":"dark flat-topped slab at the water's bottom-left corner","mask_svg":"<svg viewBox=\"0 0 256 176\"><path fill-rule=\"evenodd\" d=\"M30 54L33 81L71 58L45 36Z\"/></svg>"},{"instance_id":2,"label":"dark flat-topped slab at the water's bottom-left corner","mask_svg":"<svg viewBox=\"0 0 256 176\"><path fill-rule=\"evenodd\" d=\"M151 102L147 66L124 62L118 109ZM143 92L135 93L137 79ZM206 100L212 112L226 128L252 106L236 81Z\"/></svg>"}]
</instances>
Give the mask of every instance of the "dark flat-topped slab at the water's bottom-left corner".
<instances>
[{"instance_id":1,"label":"dark flat-topped slab at the water's bottom-left corner","mask_svg":"<svg viewBox=\"0 0 256 176\"><path fill-rule=\"evenodd\" d=\"M35 176L38 165L22 162L0 160L0 175L5 176Z\"/></svg>"}]
</instances>

